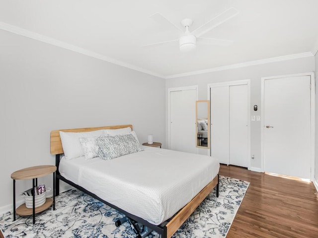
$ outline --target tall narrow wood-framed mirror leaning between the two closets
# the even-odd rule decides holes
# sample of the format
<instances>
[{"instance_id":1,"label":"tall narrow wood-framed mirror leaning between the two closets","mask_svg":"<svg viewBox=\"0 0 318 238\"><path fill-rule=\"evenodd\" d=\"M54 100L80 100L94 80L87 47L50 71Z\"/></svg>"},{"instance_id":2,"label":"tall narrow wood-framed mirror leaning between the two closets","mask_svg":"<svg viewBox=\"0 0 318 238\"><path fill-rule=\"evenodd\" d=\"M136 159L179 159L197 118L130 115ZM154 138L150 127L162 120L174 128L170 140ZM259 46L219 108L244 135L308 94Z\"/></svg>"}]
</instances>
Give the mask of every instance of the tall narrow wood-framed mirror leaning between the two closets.
<instances>
[{"instance_id":1,"label":"tall narrow wood-framed mirror leaning between the two closets","mask_svg":"<svg viewBox=\"0 0 318 238\"><path fill-rule=\"evenodd\" d=\"M196 101L196 146L210 148L210 101Z\"/></svg>"}]
</instances>

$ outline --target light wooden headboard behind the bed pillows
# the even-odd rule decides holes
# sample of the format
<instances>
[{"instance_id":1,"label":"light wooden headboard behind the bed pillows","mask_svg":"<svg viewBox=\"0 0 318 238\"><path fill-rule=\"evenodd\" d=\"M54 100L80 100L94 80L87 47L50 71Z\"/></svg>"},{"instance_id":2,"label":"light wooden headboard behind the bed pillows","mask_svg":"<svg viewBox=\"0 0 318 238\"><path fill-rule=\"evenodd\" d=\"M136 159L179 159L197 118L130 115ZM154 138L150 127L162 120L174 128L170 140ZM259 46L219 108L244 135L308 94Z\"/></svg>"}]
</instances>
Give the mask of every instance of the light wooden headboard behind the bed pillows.
<instances>
[{"instance_id":1,"label":"light wooden headboard behind the bed pillows","mask_svg":"<svg viewBox=\"0 0 318 238\"><path fill-rule=\"evenodd\" d=\"M58 154L64 153L61 138L60 138L60 131L87 132L87 131L101 130L101 129L119 129L119 128L125 128L125 127L130 127L131 129L133 129L133 125L109 125L109 126L100 126L100 127L52 130L51 131L51 154L58 155Z\"/></svg>"}]
</instances>

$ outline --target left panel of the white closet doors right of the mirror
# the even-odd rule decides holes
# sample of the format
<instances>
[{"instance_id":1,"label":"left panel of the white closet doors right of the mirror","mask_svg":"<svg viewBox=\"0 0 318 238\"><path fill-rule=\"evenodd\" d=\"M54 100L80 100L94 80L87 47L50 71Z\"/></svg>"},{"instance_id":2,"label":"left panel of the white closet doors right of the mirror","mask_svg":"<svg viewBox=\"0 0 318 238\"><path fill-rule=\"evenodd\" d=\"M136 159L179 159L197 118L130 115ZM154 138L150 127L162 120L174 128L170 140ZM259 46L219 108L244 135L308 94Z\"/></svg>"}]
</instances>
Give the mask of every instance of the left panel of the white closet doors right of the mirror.
<instances>
[{"instance_id":1,"label":"left panel of the white closet doors right of the mirror","mask_svg":"<svg viewBox=\"0 0 318 238\"><path fill-rule=\"evenodd\" d=\"M212 87L211 91L211 156L230 164L229 86Z\"/></svg>"}]
</instances>

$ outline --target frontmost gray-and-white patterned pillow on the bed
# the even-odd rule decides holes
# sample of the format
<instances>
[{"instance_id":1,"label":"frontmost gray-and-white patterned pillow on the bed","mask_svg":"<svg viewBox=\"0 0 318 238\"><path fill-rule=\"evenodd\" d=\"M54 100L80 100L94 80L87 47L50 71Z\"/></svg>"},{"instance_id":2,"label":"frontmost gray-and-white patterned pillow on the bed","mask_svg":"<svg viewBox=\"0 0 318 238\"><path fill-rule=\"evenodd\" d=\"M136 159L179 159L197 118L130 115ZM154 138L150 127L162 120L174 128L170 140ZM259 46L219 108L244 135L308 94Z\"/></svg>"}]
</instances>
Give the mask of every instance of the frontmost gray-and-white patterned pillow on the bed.
<instances>
[{"instance_id":1,"label":"frontmost gray-and-white patterned pillow on the bed","mask_svg":"<svg viewBox=\"0 0 318 238\"><path fill-rule=\"evenodd\" d=\"M99 146L98 155L103 160L143 151L143 148L132 134L104 136L96 138Z\"/></svg>"}]
</instances>

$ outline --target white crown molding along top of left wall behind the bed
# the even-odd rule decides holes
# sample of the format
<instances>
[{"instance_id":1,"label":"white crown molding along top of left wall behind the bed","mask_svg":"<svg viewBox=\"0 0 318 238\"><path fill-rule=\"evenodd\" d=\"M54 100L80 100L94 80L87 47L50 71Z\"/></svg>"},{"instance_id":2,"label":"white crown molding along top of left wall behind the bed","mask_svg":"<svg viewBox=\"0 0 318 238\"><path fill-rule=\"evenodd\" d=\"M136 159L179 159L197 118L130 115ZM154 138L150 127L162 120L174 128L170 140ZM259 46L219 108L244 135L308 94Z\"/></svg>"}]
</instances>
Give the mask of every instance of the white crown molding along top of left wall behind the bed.
<instances>
[{"instance_id":1,"label":"white crown molding along top of left wall behind the bed","mask_svg":"<svg viewBox=\"0 0 318 238\"><path fill-rule=\"evenodd\" d=\"M159 78L163 78L163 79L165 78L163 75L158 74L158 73L153 72L153 71L150 71L150 70L147 70L145 68L141 68L141 67L138 67L138 66L120 61L120 60L115 60L113 58L110 58L110 57L107 57L107 56L104 56L104 55L101 55L101 54L98 54L98 53L95 53L95 52L92 52L92 51L89 51L89 50L86 50L86 49L83 49L83 48L80 48L77 46L74 46L74 45L59 41L59 40L56 40L56 39L51 38L51 37L43 36L41 34L26 30L26 29L23 29L20 27L16 27L16 26L13 26L13 25L1 22L1 21L0 21L0 29L17 34L17 35L28 37L28 38L31 38L34 40L38 40L38 41L41 41L41 42L44 42L44 43L47 43L50 45L61 47L61 48L64 48L64 49L67 49L70 51L74 51L74 52L77 52L77 53L85 55L85 56L89 56L89 57L96 58L99 60L114 63L114 64L117 64L117 65L120 65L120 66L123 66L126 68L130 68L130 69L133 69L136 71L140 71L143 73L147 73L147 74L159 77Z\"/></svg>"}]
</instances>

